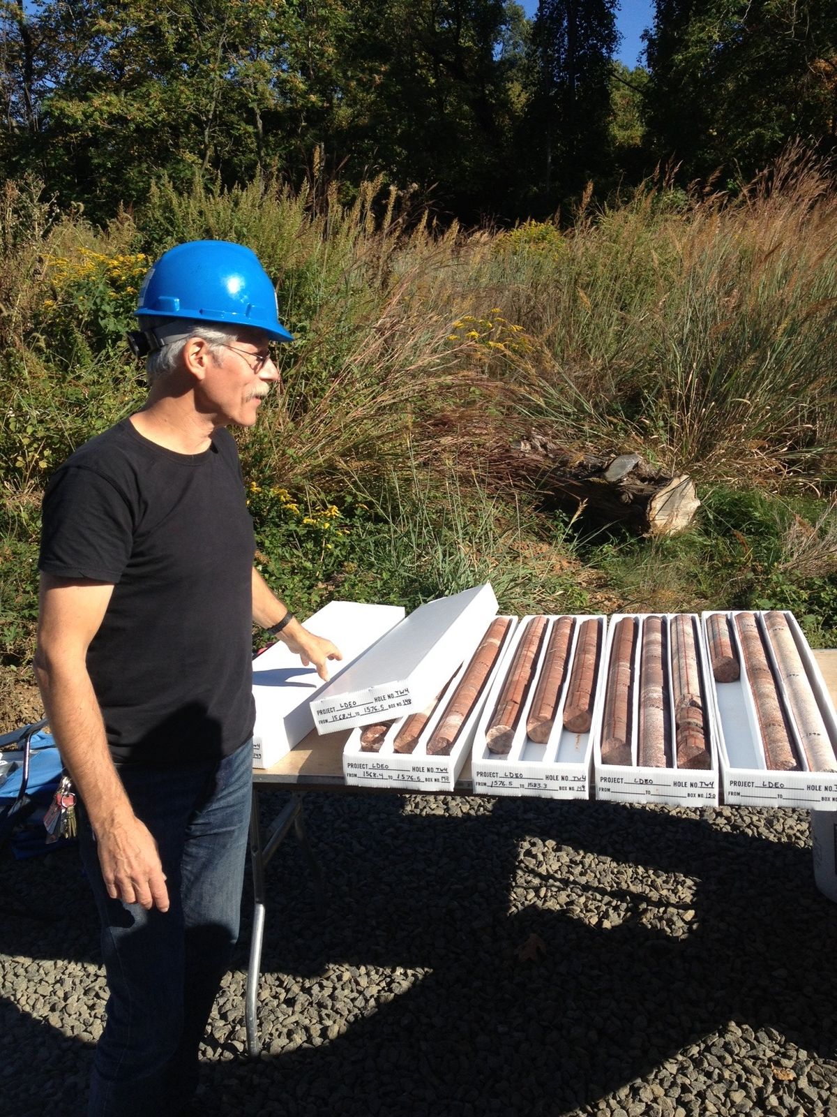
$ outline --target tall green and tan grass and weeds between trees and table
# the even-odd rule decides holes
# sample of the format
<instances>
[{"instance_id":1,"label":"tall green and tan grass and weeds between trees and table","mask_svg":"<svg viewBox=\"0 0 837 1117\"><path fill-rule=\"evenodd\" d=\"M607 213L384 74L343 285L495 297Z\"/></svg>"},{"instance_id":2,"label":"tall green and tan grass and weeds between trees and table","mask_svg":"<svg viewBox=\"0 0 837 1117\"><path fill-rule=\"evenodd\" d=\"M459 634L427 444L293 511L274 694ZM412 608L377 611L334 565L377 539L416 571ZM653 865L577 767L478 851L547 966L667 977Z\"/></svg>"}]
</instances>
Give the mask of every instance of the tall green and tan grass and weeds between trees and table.
<instances>
[{"instance_id":1,"label":"tall green and tan grass and weeds between trees and table","mask_svg":"<svg viewBox=\"0 0 837 1117\"><path fill-rule=\"evenodd\" d=\"M814 162L775 181L676 207L650 184L503 233L434 229L376 182L349 206L337 184L163 184L104 229L7 184L0 655L31 655L51 470L143 399L121 338L146 258L196 237L249 244L297 337L283 391L238 436L260 564L297 612L488 580L511 612L780 605L837 642L837 195ZM532 429L689 471L693 527L583 521L576 544L578 524L533 510L511 448Z\"/></svg>"}]
</instances>

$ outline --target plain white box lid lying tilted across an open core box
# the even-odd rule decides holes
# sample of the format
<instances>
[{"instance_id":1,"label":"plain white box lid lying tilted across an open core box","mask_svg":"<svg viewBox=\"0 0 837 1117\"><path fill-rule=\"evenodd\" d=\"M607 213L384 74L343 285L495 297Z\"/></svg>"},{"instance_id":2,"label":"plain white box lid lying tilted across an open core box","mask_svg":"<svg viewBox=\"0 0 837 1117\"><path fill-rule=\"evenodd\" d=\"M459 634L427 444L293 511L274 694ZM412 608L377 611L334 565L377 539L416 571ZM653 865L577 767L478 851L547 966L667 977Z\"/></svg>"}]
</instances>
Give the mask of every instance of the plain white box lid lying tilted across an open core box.
<instances>
[{"instance_id":1,"label":"plain white box lid lying tilted across an open core box","mask_svg":"<svg viewBox=\"0 0 837 1117\"><path fill-rule=\"evenodd\" d=\"M497 598L488 582L420 605L311 701L317 732L424 709L496 615Z\"/></svg>"}]
</instances>

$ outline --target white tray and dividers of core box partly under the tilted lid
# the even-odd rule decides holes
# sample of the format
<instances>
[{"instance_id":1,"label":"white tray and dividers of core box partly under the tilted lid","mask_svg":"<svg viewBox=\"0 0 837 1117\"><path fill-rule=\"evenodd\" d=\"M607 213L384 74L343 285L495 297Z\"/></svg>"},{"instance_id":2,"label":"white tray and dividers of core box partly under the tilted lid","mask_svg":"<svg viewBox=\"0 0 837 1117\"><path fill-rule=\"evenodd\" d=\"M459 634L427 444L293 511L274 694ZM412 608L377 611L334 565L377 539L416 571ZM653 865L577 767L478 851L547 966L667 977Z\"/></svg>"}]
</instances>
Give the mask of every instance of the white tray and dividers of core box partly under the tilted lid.
<instances>
[{"instance_id":1,"label":"white tray and dividers of core box partly under the tilted lid","mask_svg":"<svg viewBox=\"0 0 837 1117\"><path fill-rule=\"evenodd\" d=\"M465 671L471 666L471 660L483 636L497 619L496 617L491 617L484 629L472 637L462 665L453 678L448 681L440 695L433 713L427 718L427 723L422 729L412 753L396 753L393 751L395 737L411 716L410 714L398 717L389 726L383 744L377 752L362 751L360 734L363 733L363 728L360 726L352 731L343 748L343 774L347 784L363 787L397 787L402 791L453 791L456 780L468 760L474 729L485 703L485 697L500 668L504 650L513 639L514 629L518 623L517 617L508 614L500 614L500 617L510 622L509 628L503 636L494 666L489 672L471 712L456 734L450 755L429 755L426 751L427 743L446 713L449 701L453 697ZM430 705L430 703L426 705Z\"/></svg>"}]
</instances>

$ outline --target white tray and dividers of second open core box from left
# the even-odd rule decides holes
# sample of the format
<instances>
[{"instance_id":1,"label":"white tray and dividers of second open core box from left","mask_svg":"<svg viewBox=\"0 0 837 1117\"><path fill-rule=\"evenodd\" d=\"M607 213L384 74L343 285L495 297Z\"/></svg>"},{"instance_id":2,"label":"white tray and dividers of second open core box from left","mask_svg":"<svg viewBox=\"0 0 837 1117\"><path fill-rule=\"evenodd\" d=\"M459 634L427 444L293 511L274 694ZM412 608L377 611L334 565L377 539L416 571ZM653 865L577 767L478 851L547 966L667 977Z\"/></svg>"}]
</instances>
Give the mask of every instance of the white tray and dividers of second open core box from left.
<instances>
[{"instance_id":1,"label":"white tray and dividers of second open core box from left","mask_svg":"<svg viewBox=\"0 0 837 1117\"><path fill-rule=\"evenodd\" d=\"M552 629L562 615L560 613L539 614L547 617L547 627L541 638L538 659L529 681L529 690L520 709L514 727L511 748L506 754L492 753L488 747L487 733L494 715L500 693L512 665L518 645L526 636L529 624L537 615L525 617L518 624L514 640L510 642L498 666L491 693L488 695L482 716L474 734L471 752L471 779L475 792L489 795L533 795L539 799L588 799L590 792L591 736L602 701L602 663L605 655L605 626L603 615L583 614L570 619L575 622L567 655L567 663L561 679L561 689L555 710L555 722L549 738L541 745L530 741L527 719L535 698L538 680L543 669L547 647ZM578 637L584 621L594 620L599 626L599 659L594 684L593 719L587 733L573 733L564 727L564 706L567 699L569 678L575 662Z\"/></svg>"}]
</instances>

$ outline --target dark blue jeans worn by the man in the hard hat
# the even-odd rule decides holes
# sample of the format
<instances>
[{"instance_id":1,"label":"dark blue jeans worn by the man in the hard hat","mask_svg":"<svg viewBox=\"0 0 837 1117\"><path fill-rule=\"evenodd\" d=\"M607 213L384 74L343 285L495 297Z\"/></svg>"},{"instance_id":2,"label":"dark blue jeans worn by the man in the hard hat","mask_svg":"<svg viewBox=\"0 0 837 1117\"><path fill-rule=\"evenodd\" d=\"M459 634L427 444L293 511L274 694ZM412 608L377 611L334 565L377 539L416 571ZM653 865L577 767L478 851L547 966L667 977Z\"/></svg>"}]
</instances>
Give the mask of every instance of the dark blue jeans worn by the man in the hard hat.
<instances>
[{"instance_id":1,"label":"dark blue jeans worn by the man in the hard hat","mask_svg":"<svg viewBox=\"0 0 837 1117\"><path fill-rule=\"evenodd\" d=\"M169 1117L194 1092L198 1049L238 938L252 744L221 761L123 765L119 775L157 842L171 906L146 911L108 897L81 810L81 857L110 992L88 1114Z\"/></svg>"}]
</instances>

